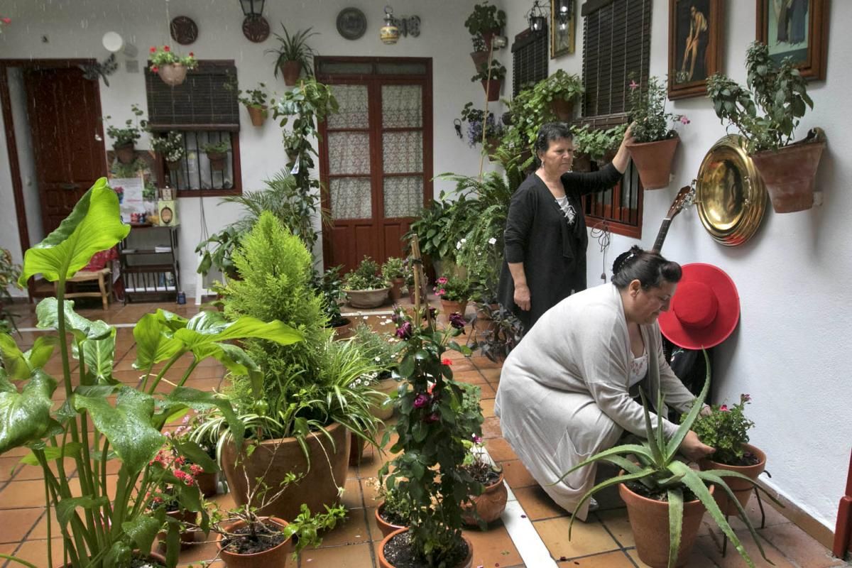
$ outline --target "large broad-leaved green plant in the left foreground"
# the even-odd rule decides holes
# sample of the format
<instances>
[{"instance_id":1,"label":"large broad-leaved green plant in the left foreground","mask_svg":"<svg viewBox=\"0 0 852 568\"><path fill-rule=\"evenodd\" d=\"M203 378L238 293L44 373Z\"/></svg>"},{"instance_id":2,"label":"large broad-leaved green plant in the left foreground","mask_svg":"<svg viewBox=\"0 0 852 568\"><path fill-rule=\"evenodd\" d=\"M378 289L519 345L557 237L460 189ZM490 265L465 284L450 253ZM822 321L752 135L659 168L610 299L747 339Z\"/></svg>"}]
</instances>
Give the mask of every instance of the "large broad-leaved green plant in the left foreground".
<instances>
[{"instance_id":1,"label":"large broad-leaved green plant in the left foreground","mask_svg":"<svg viewBox=\"0 0 852 568\"><path fill-rule=\"evenodd\" d=\"M60 519L62 553L69 566L127 565L134 550L146 555L164 523L166 558L162 565L177 563L179 523L168 519L162 508L153 510L153 488L166 475L153 463L164 443L162 430L170 416L187 409L216 408L242 439L243 425L231 404L216 393L185 387L195 367L213 357L228 368L256 371L254 361L228 341L247 336L263 337L276 344L301 339L301 334L280 322L264 324L253 318L226 321L222 314L203 311L190 319L158 310L135 324L136 359L141 387L129 387L112 377L116 353L116 329L102 321L90 321L74 313L65 299L67 278L83 268L97 251L118 244L130 232L120 221L118 198L106 178L95 182L74 206L60 228L41 244L26 251L20 282L42 273L56 282L56 297L41 301L38 325L54 328L55 336L38 337L30 351L22 352L14 340L3 336L6 387L2 402L6 418L0 421L0 455L15 448L30 448L21 462L41 466L46 505ZM72 348L61 338L70 338ZM45 364L55 348L60 350L61 376L49 376ZM78 376L72 376L71 358L79 358ZM172 366L190 356L186 370L169 373ZM14 364L12 362L14 361ZM164 377L175 387L163 388ZM56 407L51 398L57 387L66 404ZM14 409L14 412L10 410ZM193 443L176 445L181 456L201 453ZM64 458L64 459L61 459ZM66 460L74 462L75 479L66 474ZM101 473L118 466L114 491L107 490ZM174 477L174 476L173 476ZM182 508L199 511L198 488L171 479ZM176 483L175 483L176 482ZM53 537L52 524L48 540ZM49 548L49 566L58 563ZM97 565L97 564L96 564Z\"/></svg>"}]
</instances>

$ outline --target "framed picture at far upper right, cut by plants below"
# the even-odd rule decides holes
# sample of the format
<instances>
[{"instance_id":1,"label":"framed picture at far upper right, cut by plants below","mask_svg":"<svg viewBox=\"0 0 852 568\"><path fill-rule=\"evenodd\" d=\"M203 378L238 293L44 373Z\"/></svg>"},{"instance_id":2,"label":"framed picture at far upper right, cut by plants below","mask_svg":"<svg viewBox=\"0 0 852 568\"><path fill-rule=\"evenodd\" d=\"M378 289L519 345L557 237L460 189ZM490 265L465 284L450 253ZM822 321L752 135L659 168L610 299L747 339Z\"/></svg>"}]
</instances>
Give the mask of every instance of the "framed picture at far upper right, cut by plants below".
<instances>
[{"instance_id":1,"label":"framed picture at far upper right, cut by plants below","mask_svg":"<svg viewBox=\"0 0 852 568\"><path fill-rule=\"evenodd\" d=\"M757 0L757 40L772 59L792 57L803 77L825 80L827 0Z\"/></svg>"}]
</instances>

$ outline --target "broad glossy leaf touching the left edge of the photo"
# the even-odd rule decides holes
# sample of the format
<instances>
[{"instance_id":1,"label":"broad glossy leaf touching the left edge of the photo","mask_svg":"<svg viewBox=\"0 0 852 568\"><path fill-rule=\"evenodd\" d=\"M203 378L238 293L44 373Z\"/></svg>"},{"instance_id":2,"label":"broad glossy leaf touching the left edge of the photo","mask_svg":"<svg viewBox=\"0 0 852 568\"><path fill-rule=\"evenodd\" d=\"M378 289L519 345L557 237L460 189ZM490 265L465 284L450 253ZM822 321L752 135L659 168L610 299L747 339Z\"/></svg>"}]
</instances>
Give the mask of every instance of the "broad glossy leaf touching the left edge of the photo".
<instances>
[{"instance_id":1,"label":"broad glossy leaf touching the left edge of the photo","mask_svg":"<svg viewBox=\"0 0 852 568\"><path fill-rule=\"evenodd\" d=\"M37 439L51 425L50 397L56 381L43 370L32 371L23 391L12 386L5 376L0 377L0 454Z\"/></svg>"}]
</instances>

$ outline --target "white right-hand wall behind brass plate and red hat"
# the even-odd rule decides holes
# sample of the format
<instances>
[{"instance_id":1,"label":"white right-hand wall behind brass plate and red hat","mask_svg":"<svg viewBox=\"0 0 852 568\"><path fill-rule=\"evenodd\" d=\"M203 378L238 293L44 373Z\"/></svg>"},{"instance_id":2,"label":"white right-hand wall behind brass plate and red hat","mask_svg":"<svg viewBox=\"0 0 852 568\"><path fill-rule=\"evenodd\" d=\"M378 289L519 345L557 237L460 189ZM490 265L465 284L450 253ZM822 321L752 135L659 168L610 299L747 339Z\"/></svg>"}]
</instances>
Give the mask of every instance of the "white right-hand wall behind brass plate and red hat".
<instances>
[{"instance_id":1,"label":"white right-hand wall behind brass plate and red hat","mask_svg":"<svg viewBox=\"0 0 852 568\"><path fill-rule=\"evenodd\" d=\"M667 0L653 3L651 74L665 77L668 67ZM755 3L726 2L722 71L745 83L746 47L755 37ZM526 3L505 0L509 37L526 22ZM825 82L809 83L815 110L797 130L803 137L813 126L826 130L817 187L825 204L807 211L776 214L768 206L763 226L751 240L728 248L705 232L695 209L671 225L664 254L681 263L709 262L725 270L740 293L740 326L717 349L713 385L717 401L736 401L751 393L748 416L757 426L751 440L769 456L773 485L815 519L833 530L843 496L852 445L852 382L845 365L852 353L844 284L852 278L849 210L849 93L852 92L852 37L843 24L852 21L852 3L833 2L829 14L828 71ZM578 18L577 52L550 60L550 72L582 73L583 19ZM677 188L698 175L699 164L725 129L711 101L696 97L669 103L671 111L692 121L681 130L674 175L668 189L645 192L642 244L650 248ZM606 258L636 244L613 235ZM602 255L594 240L588 251L588 281L601 283Z\"/></svg>"}]
</instances>

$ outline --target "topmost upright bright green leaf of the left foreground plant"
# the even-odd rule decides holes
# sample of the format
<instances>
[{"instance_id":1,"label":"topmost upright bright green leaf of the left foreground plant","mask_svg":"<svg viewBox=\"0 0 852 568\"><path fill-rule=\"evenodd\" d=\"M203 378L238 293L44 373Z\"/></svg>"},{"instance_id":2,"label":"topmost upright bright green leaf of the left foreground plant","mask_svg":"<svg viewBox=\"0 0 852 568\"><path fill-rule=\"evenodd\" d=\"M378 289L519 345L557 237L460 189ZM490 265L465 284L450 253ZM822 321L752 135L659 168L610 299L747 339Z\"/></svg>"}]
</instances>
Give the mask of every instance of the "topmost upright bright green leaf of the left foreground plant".
<instances>
[{"instance_id":1,"label":"topmost upright bright green leaf of the left foreground plant","mask_svg":"<svg viewBox=\"0 0 852 568\"><path fill-rule=\"evenodd\" d=\"M27 250L18 282L37 273L55 282L71 278L89 263L96 252L107 250L127 237L130 225L121 222L118 196L107 186L107 178L95 181L60 226L41 243Z\"/></svg>"}]
</instances>

